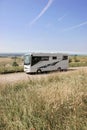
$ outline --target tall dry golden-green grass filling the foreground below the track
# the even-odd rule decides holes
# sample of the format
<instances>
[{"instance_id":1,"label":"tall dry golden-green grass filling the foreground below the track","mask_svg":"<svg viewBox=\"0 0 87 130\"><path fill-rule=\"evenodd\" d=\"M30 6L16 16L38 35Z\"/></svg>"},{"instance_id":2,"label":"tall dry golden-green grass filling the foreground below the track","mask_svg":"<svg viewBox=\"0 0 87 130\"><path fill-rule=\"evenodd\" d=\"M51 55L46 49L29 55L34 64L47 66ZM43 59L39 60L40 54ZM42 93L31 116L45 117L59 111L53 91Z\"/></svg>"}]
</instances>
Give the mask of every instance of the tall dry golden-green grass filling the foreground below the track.
<instances>
[{"instance_id":1,"label":"tall dry golden-green grass filling the foreground below the track","mask_svg":"<svg viewBox=\"0 0 87 130\"><path fill-rule=\"evenodd\" d=\"M0 130L87 130L87 73L51 74L0 90Z\"/></svg>"}]
</instances>

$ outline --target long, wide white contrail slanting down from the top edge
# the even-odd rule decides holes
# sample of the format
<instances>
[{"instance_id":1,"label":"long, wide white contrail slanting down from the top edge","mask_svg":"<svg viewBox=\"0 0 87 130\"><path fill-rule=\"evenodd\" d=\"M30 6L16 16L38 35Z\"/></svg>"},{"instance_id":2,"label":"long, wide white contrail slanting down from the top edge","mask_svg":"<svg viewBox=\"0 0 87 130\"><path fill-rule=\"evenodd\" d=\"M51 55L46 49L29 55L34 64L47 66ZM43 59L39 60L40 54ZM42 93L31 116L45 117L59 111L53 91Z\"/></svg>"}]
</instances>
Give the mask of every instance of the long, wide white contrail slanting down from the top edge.
<instances>
[{"instance_id":1,"label":"long, wide white contrail slanting down from the top edge","mask_svg":"<svg viewBox=\"0 0 87 130\"><path fill-rule=\"evenodd\" d=\"M48 3L46 6L43 8L43 10L39 13L39 15L30 23L30 25L33 25L46 11L47 9L51 6L54 0L48 0Z\"/></svg>"}]
</instances>

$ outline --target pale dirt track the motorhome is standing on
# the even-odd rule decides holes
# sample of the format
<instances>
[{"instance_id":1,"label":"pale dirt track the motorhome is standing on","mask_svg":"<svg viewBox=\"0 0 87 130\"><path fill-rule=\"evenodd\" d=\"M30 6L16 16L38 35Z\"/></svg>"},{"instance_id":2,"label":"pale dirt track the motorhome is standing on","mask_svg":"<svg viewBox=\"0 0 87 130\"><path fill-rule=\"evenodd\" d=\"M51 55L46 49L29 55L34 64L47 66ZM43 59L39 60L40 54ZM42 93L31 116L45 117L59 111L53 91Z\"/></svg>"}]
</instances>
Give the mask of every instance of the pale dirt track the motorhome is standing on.
<instances>
[{"instance_id":1,"label":"pale dirt track the motorhome is standing on","mask_svg":"<svg viewBox=\"0 0 87 130\"><path fill-rule=\"evenodd\" d=\"M87 72L87 67L73 67L73 68L69 68L69 70L67 72L63 72L63 73L71 73L71 72L75 72L75 71L79 71L79 70L84 70ZM22 81L22 80L29 80L30 78L41 78L46 75L47 74L28 75L24 72L23 73L2 74L2 75L0 75L0 84L14 83L14 82Z\"/></svg>"}]
</instances>

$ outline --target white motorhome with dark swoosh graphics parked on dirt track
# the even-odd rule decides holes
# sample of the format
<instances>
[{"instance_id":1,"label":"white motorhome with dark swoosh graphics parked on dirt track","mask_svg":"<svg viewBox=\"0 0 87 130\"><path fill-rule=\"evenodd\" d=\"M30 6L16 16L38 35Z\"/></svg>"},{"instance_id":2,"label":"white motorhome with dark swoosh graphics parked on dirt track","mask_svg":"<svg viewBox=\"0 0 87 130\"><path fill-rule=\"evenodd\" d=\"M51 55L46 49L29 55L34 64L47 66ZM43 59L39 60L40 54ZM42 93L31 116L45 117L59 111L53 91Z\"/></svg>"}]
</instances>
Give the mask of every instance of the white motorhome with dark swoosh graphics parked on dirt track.
<instances>
[{"instance_id":1,"label":"white motorhome with dark swoosh graphics parked on dirt track","mask_svg":"<svg viewBox=\"0 0 87 130\"><path fill-rule=\"evenodd\" d=\"M68 69L68 55L62 53L31 53L24 55L24 71L41 73Z\"/></svg>"}]
</instances>

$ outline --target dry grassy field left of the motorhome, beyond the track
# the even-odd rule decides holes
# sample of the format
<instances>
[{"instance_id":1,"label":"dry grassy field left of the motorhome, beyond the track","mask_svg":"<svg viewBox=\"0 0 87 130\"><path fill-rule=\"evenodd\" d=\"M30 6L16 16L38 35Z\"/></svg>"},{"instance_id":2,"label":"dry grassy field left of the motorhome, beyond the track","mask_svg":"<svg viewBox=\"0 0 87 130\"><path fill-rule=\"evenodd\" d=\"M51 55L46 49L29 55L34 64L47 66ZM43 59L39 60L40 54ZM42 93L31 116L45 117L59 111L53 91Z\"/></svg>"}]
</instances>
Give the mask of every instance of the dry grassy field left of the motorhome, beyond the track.
<instances>
[{"instance_id":1,"label":"dry grassy field left of the motorhome, beyond the track","mask_svg":"<svg viewBox=\"0 0 87 130\"><path fill-rule=\"evenodd\" d=\"M13 72L23 72L23 57L0 57L0 74Z\"/></svg>"}]
</instances>

